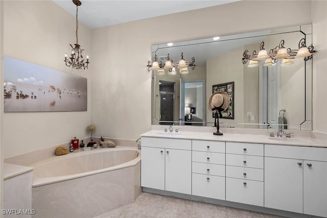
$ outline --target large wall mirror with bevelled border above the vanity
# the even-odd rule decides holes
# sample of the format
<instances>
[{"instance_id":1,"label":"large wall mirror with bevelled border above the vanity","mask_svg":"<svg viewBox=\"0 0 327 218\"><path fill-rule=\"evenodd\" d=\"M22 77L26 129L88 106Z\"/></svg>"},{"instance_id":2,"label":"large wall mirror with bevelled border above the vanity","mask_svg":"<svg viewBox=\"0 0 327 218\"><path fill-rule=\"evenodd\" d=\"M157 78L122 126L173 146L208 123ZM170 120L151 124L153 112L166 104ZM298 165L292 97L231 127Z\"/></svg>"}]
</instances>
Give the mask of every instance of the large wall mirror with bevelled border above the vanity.
<instances>
[{"instance_id":1,"label":"large wall mirror with bevelled border above the vanity","mask_svg":"<svg viewBox=\"0 0 327 218\"><path fill-rule=\"evenodd\" d=\"M297 50L300 39L312 44L312 27L264 30L229 36L175 42L152 46L152 60L165 62L167 56L177 62L181 58L196 67L188 74L157 74L152 71L152 124L214 126L213 113L207 100L213 90L228 92L232 105L219 120L223 127L312 129L312 61L291 59L283 66L282 59L265 67L243 64L243 52L259 52L261 42L267 51L284 40L284 47ZM282 65L282 66L281 66ZM232 85L231 85L232 84ZM233 114L232 114L232 113Z\"/></svg>"}]
</instances>

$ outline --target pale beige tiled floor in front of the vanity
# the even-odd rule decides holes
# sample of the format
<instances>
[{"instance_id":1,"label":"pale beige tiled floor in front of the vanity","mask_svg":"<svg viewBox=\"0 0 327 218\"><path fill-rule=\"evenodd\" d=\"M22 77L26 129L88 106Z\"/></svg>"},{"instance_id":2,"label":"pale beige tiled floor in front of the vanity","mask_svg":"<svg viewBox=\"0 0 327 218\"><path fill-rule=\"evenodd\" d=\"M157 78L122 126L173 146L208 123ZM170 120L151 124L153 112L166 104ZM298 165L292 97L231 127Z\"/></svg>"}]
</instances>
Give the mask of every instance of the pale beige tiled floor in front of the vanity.
<instances>
[{"instance_id":1,"label":"pale beige tiled floor in front of the vanity","mask_svg":"<svg viewBox=\"0 0 327 218\"><path fill-rule=\"evenodd\" d=\"M281 216L172 198L147 192L142 192L138 199L132 204L117 208L94 218L108 217L282 218Z\"/></svg>"}]
</instances>

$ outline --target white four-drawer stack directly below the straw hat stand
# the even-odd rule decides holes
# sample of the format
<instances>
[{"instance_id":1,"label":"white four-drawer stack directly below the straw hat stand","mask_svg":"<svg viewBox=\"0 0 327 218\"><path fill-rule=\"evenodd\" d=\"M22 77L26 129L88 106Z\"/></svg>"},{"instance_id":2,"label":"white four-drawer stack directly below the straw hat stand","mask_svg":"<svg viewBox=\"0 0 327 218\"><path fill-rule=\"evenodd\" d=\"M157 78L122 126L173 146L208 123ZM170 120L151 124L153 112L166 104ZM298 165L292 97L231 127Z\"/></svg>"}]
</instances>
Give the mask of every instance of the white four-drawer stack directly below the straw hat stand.
<instances>
[{"instance_id":1,"label":"white four-drawer stack directly below the straw hat stand","mask_svg":"<svg viewBox=\"0 0 327 218\"><path fill-rule=\"evenodd\" d=\"M192 140L192 195L225 200L225 142Z\"/></svg>"}]
</instances>

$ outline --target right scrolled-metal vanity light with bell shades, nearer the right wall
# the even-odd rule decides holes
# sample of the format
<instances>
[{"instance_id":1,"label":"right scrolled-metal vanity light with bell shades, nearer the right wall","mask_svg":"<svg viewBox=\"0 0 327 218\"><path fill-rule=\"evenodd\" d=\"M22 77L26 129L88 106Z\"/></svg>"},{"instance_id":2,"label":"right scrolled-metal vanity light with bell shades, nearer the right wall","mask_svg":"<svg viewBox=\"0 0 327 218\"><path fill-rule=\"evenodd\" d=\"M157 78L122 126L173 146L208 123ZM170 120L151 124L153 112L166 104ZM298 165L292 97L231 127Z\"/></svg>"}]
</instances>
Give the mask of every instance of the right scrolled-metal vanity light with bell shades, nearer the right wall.
<instances>
[{"instance_id":1,"label":"right scrolled-metal vanity light with bell shades, nearer the right wall","mask_svg":"<svg viewBox=\"0 0 327 218\"><path fill-rule=\"evenodd\" d=\"M247 67L257 67L259 66L258 60L265 60L265 63L263 66L269 67L274 65L278 59L283 59L281 66L288 66L290 64L293 64L294 62L292 59L298 58L298 57L303 57L305 61L311 60L312 59L312 54L315 53L316 51L313 50L313 46L306 46L306 39L302 38L299 43L298 43L298 49L297 50L292 50L290 48L286 49L284 47L284 39L279 42L279 46L276 46L274 49L270 49L269 52L264 48L265 43L261 42L260 44L260 51L259 53L256 53L254 50L252 54L248 54L248 50L245 50L243 52L243 58L242 62L245 64L246 62L249 61L249 64Z\"/></svg>"}]
</instances>

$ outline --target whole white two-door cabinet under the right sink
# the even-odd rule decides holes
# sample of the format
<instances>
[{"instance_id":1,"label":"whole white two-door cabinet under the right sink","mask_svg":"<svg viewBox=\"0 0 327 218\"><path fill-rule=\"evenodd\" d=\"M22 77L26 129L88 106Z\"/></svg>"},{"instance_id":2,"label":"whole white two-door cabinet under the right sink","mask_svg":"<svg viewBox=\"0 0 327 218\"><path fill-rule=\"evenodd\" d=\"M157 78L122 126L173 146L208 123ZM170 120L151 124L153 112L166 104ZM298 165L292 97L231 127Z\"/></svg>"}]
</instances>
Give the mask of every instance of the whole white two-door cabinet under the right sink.
<instances>
[{"instance_id":1,"label":"whole white two-door cabinet under the right sink","mask_svg":"<svg viewBox=\"0 0 327 218\"><path fill-rule=\"evenodd\" d=\"M327 148L265 145L265 207L327 217Z\"/></svg>"}]
</instances>

